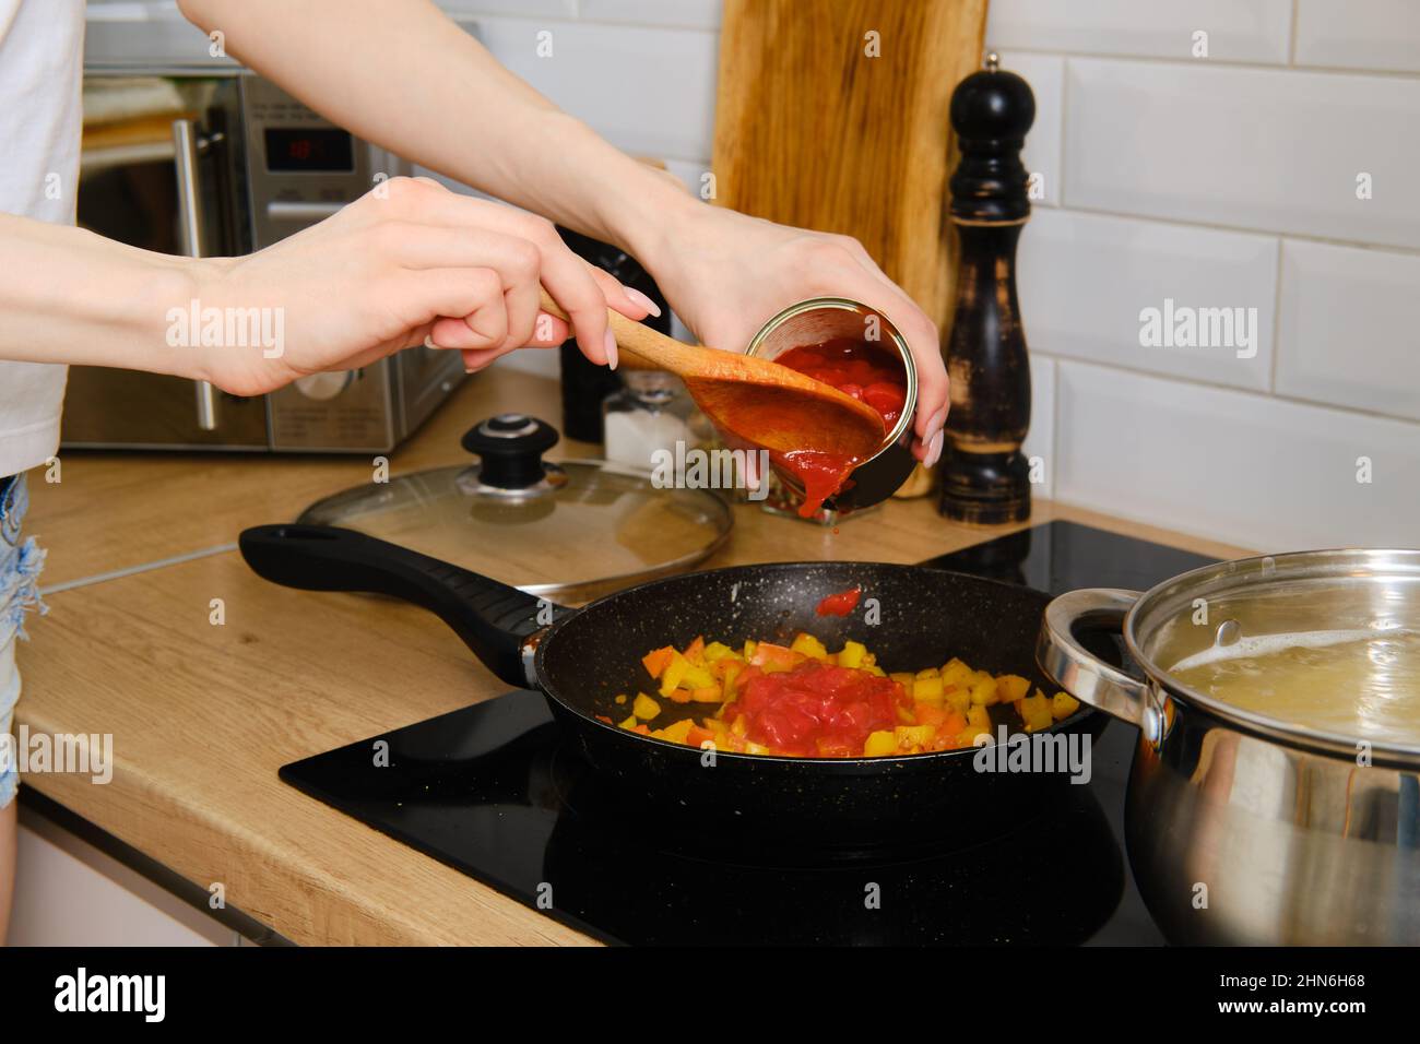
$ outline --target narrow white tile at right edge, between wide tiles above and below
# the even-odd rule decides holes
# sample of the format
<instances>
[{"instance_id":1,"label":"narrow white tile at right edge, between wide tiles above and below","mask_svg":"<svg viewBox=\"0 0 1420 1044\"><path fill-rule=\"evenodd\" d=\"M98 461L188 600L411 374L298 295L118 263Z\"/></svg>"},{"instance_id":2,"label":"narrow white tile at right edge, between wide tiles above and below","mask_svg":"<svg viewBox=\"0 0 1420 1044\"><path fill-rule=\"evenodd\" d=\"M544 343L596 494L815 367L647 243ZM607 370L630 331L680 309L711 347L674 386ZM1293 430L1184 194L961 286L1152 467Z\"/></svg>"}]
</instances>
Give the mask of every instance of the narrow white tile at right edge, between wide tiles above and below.
<instances>
[{"instance_id":1,"label":"narrow white tile at right edge, between wide tiles above and below","mask_svg":"<svg viewBox=\"0 0 1420 1044\"><path fill-rule=\"evenodd\" d=\"M1420 254L1287 240L1277 392L1420 420L1417 291Z\"/></svg>"}]
</instances>

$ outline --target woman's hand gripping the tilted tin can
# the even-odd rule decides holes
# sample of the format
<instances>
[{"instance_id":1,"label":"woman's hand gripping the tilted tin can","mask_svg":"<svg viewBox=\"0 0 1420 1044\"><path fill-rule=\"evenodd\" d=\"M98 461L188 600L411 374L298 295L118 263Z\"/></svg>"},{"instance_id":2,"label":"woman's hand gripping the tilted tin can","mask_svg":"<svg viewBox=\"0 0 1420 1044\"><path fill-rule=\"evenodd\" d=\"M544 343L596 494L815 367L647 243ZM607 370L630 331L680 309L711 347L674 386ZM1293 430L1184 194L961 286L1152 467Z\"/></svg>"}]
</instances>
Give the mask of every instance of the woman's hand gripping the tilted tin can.
<instances>
[{"instance_id":1,"label":"woman's hand gripping the tilted tin can","mask_svg":"<svg viewBox=\"0 0 1420 1044\"><path fill-rule=\"evenodd\" d=\"M648 266L676 314L711 348L744 351L775 314L808 297L849 297L878 308L902 331L917 366L913 453L941 456L947 371L937 327L873 264L858 240L747 217L689 202L665 224Z\"/></svg>"}]
</instances>

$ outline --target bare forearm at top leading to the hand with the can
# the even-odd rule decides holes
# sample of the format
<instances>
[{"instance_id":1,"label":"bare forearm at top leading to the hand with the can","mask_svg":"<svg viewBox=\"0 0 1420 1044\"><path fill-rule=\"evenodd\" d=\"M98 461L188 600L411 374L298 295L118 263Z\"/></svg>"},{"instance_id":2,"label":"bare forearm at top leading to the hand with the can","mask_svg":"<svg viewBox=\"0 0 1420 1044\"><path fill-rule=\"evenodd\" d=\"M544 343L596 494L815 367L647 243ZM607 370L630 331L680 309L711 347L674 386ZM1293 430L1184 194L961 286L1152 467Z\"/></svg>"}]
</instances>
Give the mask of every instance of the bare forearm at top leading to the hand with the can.
<instances>
[{"instance_id":1,"label":"bare forearm at top leading to the hand with the can","mask_svg":"<svg viewBox=\"0 0 1420 1044\"><path fill-rule=\"evenodd\" d=\"M693 202L557 109L427 0L180 6L220 30L229 54L354 134L648 263Z\"/></svg>"}]
</instances>

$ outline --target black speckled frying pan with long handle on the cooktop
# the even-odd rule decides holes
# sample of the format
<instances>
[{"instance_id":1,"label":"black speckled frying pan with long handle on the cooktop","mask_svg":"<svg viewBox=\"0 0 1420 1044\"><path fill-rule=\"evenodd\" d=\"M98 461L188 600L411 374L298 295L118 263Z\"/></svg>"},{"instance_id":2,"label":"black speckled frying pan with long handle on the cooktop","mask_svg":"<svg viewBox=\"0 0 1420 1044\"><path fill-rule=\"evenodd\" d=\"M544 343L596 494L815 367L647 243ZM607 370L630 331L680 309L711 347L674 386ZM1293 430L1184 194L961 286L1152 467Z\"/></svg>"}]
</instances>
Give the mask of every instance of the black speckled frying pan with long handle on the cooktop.
<instances>
[{"instance_id":1,"label":"black speckled frying pan with long handle on the cooktop","mask_svg":"<svg viewBox=\"0 0 1420 1044\"><path fill-rule=\"evenodd\" d=\"M308 591L392 595L437 614L508 685L540 689L565 736L606 780L677 814L737 827L866 839L932 824L976 831L1010 814L1059 774L981 773L976 750L873 758L798 758L707 751L639 736L598 720L625 717L618 693L655 692L640 656L684 648L697 635L740 645L787 642L808 631L829 648L863 642L888 670L960 656L991 673L1024 675L1045 692L1035 638L1049 598L1022 587L946 570L883 562L774 562L655 580L582 609L550 605L487 577L351 530L258 526L240 538L261 577ZM861 609L818 616L819 599L861 587ZM880 619L866 621L868 599ZM652 727L713 705L662 702ZM1012 722L1011 707L993 720ZM1049 732L1098 733L1103 717L1081 709ZM690 822L694 818L687 820Z\"/></svg>"}]
</instances>

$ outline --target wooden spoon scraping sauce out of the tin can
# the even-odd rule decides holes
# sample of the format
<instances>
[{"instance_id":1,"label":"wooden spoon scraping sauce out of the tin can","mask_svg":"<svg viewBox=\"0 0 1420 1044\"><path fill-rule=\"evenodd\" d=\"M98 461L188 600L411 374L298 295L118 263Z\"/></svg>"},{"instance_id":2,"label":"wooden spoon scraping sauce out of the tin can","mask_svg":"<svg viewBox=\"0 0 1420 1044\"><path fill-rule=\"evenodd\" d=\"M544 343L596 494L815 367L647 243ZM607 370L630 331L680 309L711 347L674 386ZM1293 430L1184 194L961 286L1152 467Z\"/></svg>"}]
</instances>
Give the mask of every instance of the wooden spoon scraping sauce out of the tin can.
<instances>
[{"instance_id":1,"label":"wooden spoon scraping sauce out of the tin can","mask_svg":"<svg viewBox=\"0 0 1420 1044\"><path fill-rule=\"evenodd\" d=\"M547 290L542 311L567 318ZM606 310L621 359L666 369L720 430L771 453L814 450L868 460L883 443L883 419L872 406L832 385L768 359L684 344Z\"/></svg>"}]
</instances>

